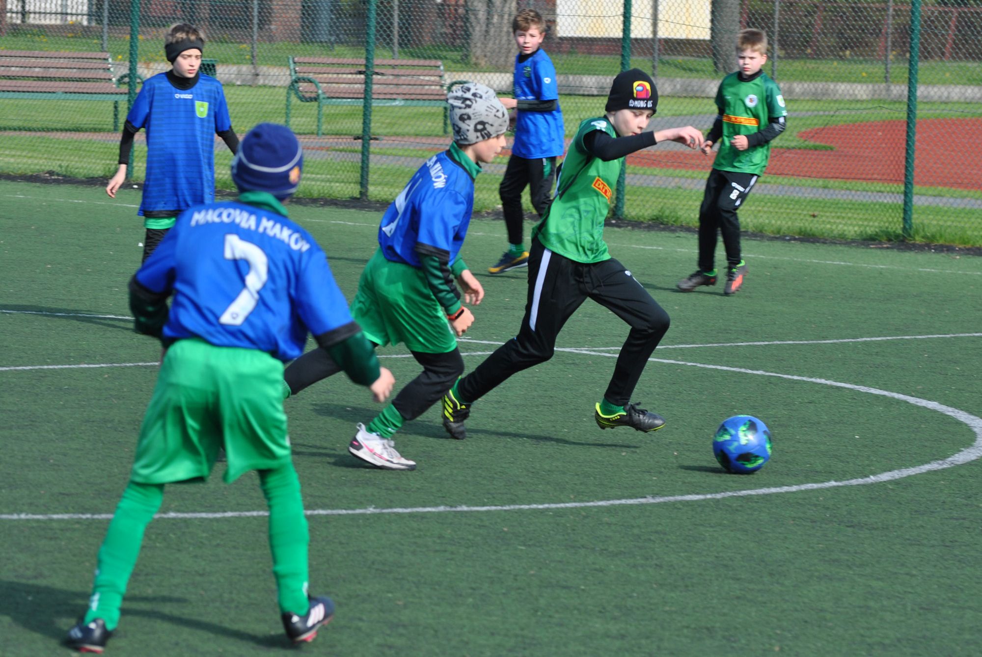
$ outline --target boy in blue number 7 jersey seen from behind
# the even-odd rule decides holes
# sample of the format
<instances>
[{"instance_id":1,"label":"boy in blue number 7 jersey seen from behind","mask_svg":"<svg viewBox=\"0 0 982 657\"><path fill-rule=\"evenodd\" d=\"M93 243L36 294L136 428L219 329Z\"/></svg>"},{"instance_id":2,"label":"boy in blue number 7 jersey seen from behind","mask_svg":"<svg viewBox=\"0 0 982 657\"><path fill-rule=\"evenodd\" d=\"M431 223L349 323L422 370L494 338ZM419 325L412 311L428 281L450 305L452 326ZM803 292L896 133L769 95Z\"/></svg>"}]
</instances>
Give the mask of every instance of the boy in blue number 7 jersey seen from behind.
<instances>
[{"instance_id":1,"label":"boy in blue number 7 jersey seen from behind","mask_svg":"<svg viewBox=\"0 0 982 657\"><path fill-rule=\"evenodd\" d=\"M82 652L102 652L116 629L164 484L206 480L222 447L224 479L255 470L266 496L287 636L309 641L331 619L330 598L306 592L309 538L283 411L283 362L300 355L309 331L376 401L394 380L352 320L323 250L282 205L297 190L302 158L289 128L255 126L232 162L239 199L182 213L130 281L136 331L160 338L166 352L130 482L99 549L88 611L69 632Z\"/></svg>"}]
</instances>

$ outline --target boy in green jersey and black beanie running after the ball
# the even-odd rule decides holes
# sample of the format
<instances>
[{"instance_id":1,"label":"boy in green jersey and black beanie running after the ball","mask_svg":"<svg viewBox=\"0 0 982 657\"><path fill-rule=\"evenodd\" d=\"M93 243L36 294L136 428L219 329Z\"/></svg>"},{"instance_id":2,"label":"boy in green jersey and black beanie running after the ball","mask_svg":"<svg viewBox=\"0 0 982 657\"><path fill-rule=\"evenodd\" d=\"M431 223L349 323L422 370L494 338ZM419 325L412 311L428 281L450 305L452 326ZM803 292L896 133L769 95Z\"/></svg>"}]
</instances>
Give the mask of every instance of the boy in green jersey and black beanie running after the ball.
<instances>
[{"instance_id":1,"label":"boy in green jersey and black beanie running after the ball","mask_svg":"<svg viewBox=\"0 0 982 657\"><path fill-rule=\"evenodd\" d=\"M632 69L614 78L606 114L579 125L564 160L556 200L532 230L521 328L444 395L443 424L451 436L464 438L472 402L512 375L552 358L559 331L588 298L630 327L614 376L595 405L597 425L639 431L665 425L660 416L629 401L648 357L669 329L669 316L624 265L611 258L603 235L628 153L668 140L689 148L702 145L702 132L692 126L645 132L657 104L651 77Z\"/></svg>"}]
</instances>

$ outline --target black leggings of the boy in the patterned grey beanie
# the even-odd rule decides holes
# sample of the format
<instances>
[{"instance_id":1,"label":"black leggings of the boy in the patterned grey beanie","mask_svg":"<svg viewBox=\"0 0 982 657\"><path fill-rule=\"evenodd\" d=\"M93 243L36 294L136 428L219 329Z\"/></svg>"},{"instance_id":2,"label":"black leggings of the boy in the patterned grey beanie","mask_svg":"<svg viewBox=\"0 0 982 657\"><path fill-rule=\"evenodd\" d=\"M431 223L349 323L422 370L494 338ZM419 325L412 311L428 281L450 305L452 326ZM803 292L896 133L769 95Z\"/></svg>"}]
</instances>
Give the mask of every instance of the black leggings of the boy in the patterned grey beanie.
<instances>
[{"instance_id":1,"label":"black leggings of the boy in the patterned grey beanie","mask_svg":"<svg viewBox=\"0 0 982 657\"><path fill-rule=\"evenodd\" d=\"M460 349L443 354L410 353L423 366L423 371L403 386L392 405L405 419L415 420L439 401L457 378L464 374L464 358ZM283 379L290 386L291 394L297 394L308 385L339 372L341 368L334 359L318 347L291 363L283 373Z\"/></svg>"}]
</instances>

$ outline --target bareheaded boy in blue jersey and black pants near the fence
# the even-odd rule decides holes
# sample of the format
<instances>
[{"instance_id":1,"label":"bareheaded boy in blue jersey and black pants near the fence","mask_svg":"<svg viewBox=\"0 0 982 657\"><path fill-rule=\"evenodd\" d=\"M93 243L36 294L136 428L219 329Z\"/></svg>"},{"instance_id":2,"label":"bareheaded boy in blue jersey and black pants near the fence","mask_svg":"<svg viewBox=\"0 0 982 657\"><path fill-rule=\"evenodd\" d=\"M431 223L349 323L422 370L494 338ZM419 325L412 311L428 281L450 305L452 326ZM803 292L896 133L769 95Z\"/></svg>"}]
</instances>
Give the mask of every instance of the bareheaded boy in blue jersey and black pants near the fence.
<instances>
[{"instance_id":1,"label":"bareheaded boy in blue jersey and black pants near the fence","mask_svg":"<svg viewBox=\"0 0 982 657\"><path fill-rule=\"evenodd\" d=\"M534 9L523 9L512 21L512 31L518 43L515 98L502 98L501 102L516 111L515 143L505 177L498 188L509 246L501 259L488 268L489 274L501 274L528 265L521 192L528 187L532 207L541 218L552 200L556 158L563 155L565 145L556 68L549 55L540 48L545 38L545 21Z\"/></svg>"}]
</instances>

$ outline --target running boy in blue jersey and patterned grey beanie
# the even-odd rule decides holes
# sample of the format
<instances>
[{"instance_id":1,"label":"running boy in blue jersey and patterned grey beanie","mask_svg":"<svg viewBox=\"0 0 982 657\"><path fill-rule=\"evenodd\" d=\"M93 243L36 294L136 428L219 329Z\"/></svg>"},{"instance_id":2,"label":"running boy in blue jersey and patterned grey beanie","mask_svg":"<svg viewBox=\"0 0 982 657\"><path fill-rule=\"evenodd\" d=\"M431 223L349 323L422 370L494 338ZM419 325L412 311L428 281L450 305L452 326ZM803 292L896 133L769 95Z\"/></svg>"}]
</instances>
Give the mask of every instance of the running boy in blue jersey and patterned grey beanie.
<instances>
[{"instance_id":1,"label":"running boy in blue jersey and patterned grey beanie","mask_svg":"<svg viewBox=\"0 0 982 657\"><path fill-rule=\"evenodd\" d=\"M454 333L463 335L474 317L461 305L454 278L467 303L476 305L484 297L460 250L470 224L474 177L482 163L490 163L504 148L508 111L494 91L471 82L452 89L447 101L454 143L427 160L386 210L379 248L365 266L352 302L352 315L369 340L377 345L403 342L423 366L367 427L357 425L348 447L355 457L385 470L416 467L396 451L393 434L435 404L464 373ZM296 394L339 369L330 354L307 352L287 368L287 393Z\"/></svg>"}]
</instances>

